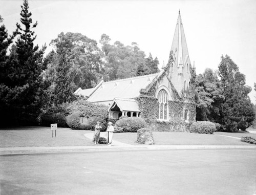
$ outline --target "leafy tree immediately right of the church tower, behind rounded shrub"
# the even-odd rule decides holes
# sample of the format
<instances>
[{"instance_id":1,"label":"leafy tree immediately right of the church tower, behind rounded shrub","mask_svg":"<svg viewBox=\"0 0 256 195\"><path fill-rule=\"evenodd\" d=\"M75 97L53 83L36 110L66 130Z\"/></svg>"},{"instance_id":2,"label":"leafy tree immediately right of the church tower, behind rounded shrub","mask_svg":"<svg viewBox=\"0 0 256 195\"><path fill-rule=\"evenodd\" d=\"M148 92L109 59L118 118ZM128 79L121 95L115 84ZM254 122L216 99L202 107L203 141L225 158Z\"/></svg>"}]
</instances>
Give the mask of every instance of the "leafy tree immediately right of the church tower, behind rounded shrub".
<instances>
[{"instance_id":1,"label":"leafy tree immediately right of the church tower, behind rounded shrub","mask_svg":"<svg viewBox=\"0 0 256 195\"><path fill-rule=\"evenodd\" d=\"M195 79L198 121L220 122L220 110L224 100L223 88L217 73L207 68Z\"/></svg>"}]
</instances>

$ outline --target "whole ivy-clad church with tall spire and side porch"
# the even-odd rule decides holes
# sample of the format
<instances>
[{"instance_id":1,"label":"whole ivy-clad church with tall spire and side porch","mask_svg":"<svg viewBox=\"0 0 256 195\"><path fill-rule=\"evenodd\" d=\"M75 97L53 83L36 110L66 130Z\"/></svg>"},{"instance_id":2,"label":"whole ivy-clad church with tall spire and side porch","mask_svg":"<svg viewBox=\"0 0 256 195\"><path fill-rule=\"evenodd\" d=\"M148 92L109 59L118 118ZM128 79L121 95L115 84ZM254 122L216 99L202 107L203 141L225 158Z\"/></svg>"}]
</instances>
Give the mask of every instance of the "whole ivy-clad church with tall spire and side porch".
<instances>
[{"instance_id":1,"label":"whole ivy-clad church with tall spire and side porch","mask_svg":"<svg viewBox=\"0 0 256 195\"><path fill-rule=\"evenodd\" d=\"M153 131L186 132L196 120L192 67L179 11L169 60L159 73L103 80L74 94L109 106L109 117L142 117Z\"/></svg>"}]
</instances>

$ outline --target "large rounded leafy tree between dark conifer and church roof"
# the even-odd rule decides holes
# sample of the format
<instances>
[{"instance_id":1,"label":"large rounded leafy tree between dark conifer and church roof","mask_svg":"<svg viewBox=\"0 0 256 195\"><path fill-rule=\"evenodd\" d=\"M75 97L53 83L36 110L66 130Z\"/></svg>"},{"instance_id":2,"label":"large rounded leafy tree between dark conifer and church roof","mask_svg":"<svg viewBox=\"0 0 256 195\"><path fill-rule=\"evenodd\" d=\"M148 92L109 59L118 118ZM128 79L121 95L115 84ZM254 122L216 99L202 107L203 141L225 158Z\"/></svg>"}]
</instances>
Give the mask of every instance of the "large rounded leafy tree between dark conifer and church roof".
<instances>
[{"instance_id":1,"label":"large rounded leafy tree between dark conifer and church roof","mask_svg":"<svg viewBox=\"0 0 256 195\"><path fill-rule=\"evenodd\" d=\"M73 93L79 87L92 88L100 79L101 54L97 42L80 33L61 32L51 44L56 52L47 56L48 68L44 73L45 80L51 83L51 103L73 101Z\"/></svg>"}]
</instances>

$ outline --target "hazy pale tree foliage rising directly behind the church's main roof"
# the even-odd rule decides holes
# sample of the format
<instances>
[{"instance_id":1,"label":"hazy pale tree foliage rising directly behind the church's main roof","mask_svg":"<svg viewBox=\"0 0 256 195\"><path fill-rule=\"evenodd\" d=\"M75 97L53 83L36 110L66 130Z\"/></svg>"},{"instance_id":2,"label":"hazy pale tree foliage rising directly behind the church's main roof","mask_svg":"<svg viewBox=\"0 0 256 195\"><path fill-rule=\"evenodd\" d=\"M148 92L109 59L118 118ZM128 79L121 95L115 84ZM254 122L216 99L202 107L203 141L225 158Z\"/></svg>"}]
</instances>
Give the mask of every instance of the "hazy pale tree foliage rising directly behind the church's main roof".
<instances>
[{"instance_id":1,"label":"hazy pale tree foliage rising directly behind the church's main roof","mask_svg":"<svg viewBox=\"0 0 256 195\"><path fill-rule=\"evenodd\" d=\"M102 34L99 41L102 46L102 61L104 61L102 76L105 81L134 77L137 75L138 68L141 71L145 69L145 54L136 42L132 42L131 46L124 46L120 41L115 41L111 45L110 41L111 38L106 34ZM145 74L153 73L152 70L156 71L157 58L153 62L153 65L148 64L148 71Z\"/></svg>"}]
</instances>

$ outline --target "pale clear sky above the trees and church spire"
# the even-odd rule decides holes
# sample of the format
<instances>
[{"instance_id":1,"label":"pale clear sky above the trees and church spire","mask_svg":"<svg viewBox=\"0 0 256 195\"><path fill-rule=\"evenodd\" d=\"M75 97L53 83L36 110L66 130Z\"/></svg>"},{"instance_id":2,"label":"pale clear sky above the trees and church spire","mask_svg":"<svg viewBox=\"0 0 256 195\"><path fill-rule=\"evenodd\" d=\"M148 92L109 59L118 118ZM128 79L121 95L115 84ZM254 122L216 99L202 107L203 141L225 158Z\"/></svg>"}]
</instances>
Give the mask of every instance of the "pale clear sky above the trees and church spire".
<instances>
[{"instance_id":1,"label":"pale clear sky above the trees and church spire","mask_svg":"<svg viewBox=\"0 0 256 195\"><path fill-rule=\"evenodd\" d=\"M11 33L20 19L23 0L0 0L3 24ZM246 76L251 86L251 101L256 103L256 1L255 0L130 0L130 1L38 1L29 0L29 10L39 47L60 32L74 32L99 41L105 33L112 43L137 42L139 48L163 62L169 51L180 10L190 61L196 73L206 68L218 70L221 55L228 55Z\"/></svg>"}]
</instances>

